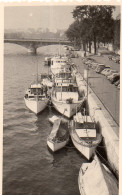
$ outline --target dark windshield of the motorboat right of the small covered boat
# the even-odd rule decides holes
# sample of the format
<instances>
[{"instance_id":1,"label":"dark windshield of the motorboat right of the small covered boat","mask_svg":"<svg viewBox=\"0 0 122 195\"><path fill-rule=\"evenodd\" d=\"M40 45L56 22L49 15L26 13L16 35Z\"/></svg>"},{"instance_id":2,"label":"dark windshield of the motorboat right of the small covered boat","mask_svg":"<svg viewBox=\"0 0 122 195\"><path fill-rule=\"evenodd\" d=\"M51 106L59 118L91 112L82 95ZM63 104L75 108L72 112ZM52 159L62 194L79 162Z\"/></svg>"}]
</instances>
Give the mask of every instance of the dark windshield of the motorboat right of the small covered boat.
<instances>
[{"instance_id":1,"label":"dark windshield of the motorboat right of the small covered boat","mask_svg":"<svg viewBox=\"0 0 122 195\"><path fill-rule=\"evenodd\" d=\"M76 129L95 129L96 125L93 122L75 123Z\"/></svg>"}]
</instances>

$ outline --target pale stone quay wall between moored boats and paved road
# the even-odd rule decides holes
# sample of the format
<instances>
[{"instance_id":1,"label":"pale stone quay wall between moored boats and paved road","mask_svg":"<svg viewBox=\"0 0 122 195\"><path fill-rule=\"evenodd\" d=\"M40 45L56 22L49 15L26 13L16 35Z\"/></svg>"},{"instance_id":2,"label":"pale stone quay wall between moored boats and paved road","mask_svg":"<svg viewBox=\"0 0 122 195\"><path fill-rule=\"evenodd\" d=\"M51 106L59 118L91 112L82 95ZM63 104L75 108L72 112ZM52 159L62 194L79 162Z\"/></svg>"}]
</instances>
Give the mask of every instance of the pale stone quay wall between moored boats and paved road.
<instances>
[{"instance_id":1,"label":"pale stone quay wall between moored boats and paved road","mask_svg":"<svg viewBox=\"0 0 122 195\"><path fill-rule=\"evenodd\" d=\"M76 73L76 81L78 84L79 92L82 93L82 91L84 90L86 93L87 84L80 73ZM111 165L112 170L118 177L119 136L116 132L118 132L119 127L90 87L88 87L88 105L89 113L92 119L100 126L108 161Z\"/></svg>"}]
</instances>

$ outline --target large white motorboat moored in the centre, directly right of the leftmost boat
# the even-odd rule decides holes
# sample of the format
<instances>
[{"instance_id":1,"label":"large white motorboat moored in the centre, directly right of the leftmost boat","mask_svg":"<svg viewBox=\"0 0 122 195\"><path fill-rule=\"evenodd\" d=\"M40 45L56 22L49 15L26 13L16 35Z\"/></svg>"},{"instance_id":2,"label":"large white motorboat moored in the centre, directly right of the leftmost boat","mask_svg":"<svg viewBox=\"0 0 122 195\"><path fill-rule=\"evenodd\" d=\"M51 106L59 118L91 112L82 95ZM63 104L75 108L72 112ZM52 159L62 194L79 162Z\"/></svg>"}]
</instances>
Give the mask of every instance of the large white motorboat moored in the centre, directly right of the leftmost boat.
<instances>
[{"instance_id":1,"label":"large white motorboat moored in the centre, directly right of the leftmost boat","mask_svg":"<svg viewBox=\"0 0 122 195\"><path fill-rule=\"evenodd\" d=\"M84 93L80 96L74 80L59 79L52 89L51 100L57 111L70 118L81 108L85 100Z\"/></svg>"}]
</instances>

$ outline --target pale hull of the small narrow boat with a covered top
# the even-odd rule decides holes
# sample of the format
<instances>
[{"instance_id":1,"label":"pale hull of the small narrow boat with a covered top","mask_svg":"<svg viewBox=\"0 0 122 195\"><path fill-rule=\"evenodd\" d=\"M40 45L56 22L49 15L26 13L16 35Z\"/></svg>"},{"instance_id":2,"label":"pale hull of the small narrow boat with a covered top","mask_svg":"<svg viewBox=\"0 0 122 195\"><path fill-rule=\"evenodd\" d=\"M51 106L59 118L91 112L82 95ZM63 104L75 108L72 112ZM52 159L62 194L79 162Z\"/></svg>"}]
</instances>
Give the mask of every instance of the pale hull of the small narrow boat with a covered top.
<instances>
[{"instance_id":1,"label":"pale hull of the small narrow boat with a covered top","mask_svg":"<svg viewBox=\"0 0 122 195\"><path fill-rule=\"evenodd\" d=\"M62 142L53 142L52 140L47 139L47 145L53 152L56 152L57 150L65 147L67 142L68 139Z\"/></svg>"}]
</instances>

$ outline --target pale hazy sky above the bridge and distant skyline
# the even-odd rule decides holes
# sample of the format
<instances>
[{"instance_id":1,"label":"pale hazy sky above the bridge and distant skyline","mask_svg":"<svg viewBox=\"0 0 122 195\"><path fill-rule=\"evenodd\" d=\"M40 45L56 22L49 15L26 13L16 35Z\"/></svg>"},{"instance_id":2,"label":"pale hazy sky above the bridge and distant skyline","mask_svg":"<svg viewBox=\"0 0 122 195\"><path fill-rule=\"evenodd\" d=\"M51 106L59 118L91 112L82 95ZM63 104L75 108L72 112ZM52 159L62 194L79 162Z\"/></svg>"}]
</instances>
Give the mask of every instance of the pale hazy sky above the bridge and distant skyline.
<instances>
[{"instance_id":1,"label":"pale hazy sky above the bridge and distant skyline","mask_svg":"<svg viewBox=\"0 0 122 195\"><path fill-rule=\"evenodd\" d=\"M76 6L17 6L5 7L5 29L48 28L55 32L57 29L67 29L74 21L72 11ZM117 6L114 17L120 13Z\"/></svg>"}]
</instances>

